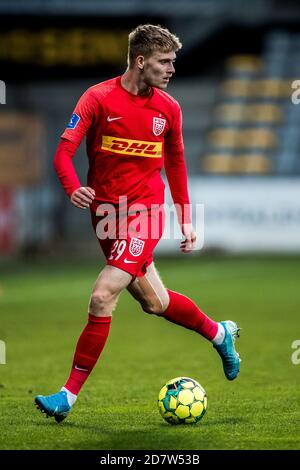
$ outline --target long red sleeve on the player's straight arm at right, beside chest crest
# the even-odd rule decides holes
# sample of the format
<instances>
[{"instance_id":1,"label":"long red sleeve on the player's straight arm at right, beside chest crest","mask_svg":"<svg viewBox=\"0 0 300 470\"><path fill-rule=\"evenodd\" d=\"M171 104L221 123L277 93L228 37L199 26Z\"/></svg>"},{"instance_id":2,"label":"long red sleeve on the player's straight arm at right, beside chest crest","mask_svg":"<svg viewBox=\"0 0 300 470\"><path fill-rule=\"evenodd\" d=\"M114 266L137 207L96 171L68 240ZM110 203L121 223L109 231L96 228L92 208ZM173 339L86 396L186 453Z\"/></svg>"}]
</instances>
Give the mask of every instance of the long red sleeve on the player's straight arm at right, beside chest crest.
<instances>
[{"instance_id":1,"label":"long red sleeve on the player's straight arm at right, beside chest crest","mask_svg":"<svg viewBox=\"0 0 300 470\"><path fill-rule=\"evenodd\" d=\"M182 137L182 113L177 103L174 106L173 115L173 125L165 136L165 171L171 195L176 205L179 223L191 223L191 208Z\"/></svg>"}]
</instances>

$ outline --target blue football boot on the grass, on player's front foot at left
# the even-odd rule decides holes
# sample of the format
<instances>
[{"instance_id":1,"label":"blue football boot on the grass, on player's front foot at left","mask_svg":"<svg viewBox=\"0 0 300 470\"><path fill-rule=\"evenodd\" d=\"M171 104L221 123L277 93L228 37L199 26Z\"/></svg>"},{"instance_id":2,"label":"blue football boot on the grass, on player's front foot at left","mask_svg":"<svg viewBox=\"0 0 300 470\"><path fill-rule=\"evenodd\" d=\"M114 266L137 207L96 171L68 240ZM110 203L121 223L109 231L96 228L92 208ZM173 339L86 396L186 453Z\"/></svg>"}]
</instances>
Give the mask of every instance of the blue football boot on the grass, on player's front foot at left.
<instances>
[{"instance_id":1,"label":"blue football boot on the grass, on player's front foot at left","mask_svg":"<svg viewBox=\"0 0 300 470\"><path fill-rule=\"evenodd\" d=\"M47 417L54 416L57 423L63 421L72 409L67 399L67 393L64 391L54 395L37 395L34 401L42 413L46 413Z\"/></svg>"}]
</instances>

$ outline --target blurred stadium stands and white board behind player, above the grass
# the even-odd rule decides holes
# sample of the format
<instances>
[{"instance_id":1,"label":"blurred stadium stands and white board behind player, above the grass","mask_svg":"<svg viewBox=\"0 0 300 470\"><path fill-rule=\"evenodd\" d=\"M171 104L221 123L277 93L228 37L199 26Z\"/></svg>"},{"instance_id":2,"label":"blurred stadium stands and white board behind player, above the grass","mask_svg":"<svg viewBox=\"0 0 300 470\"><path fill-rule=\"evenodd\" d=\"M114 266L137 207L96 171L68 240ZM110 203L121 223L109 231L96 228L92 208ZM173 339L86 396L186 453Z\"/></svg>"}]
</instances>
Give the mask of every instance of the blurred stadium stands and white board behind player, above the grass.
<instances>
[{"instance_id":1,"label":"blurred stadium stands and white board behind player, above the grass","mask_svg":"<svg viewBox=\"0 0 300 470\"><path fill-rule=\"evenodd\" d=\"M126 69L128 33L145 22L184 45L168 92L183 109L204 249L300 251L298 1L1 0L0 15L2 257L98 253L52 160L80 95ZM84 143L74 163L85 184Z\"/></svg>"}]
</instances>

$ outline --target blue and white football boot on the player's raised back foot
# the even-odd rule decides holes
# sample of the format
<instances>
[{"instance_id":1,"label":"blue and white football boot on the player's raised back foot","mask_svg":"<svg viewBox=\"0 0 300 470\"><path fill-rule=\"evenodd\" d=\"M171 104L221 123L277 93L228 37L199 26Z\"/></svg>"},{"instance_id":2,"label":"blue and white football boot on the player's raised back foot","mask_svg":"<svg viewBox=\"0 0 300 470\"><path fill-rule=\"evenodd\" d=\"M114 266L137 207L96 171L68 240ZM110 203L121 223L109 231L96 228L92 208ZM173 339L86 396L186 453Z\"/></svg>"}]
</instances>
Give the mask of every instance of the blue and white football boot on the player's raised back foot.
<instances>
[{"instance_id":1,"label":"blue and white football boot on the player's raised back foot","mask_svg":"<svg viewBox=\"0 0 300 470\"><path fill-rule=\"evenodd\" d=\"M223 369L228 380L234 380L240 371L241 359L235 350L235 340L239 337L240 328L231 320L222 321L225 337L221 344L214 344L223 362Z\"/></svg>"}]
</instances>

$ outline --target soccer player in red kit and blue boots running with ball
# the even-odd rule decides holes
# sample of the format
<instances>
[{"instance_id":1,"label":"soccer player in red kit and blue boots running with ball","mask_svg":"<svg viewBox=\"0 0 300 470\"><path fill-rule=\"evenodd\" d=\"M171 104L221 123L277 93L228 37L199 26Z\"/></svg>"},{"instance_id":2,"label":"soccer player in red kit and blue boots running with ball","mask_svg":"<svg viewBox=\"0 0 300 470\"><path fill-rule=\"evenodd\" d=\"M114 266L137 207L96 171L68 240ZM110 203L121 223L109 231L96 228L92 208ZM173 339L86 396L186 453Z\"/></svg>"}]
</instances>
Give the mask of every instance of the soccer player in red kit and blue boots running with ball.
<instances>
[{"instance_id":1,"label":"soccer player in red kit and blue boots running with ball","mask_svg":"<svg viewBox=\"0 0 300 470\"><path fill-rule=\"evenodd\" d=\"M60 182L76 207L90 208L106 257L106 266L92 290L88 322L78 340L69 378L58 393L35 398L37 407L57 422L71 411L92 372L124 289L145 312L194 330L211 341L228 380L234 380L239 372L236 323L216 322L188 297L167 289L153 262L153 250L163 231L163 167L183 234L181 251L189 253L196 243L181 110L164 91L175 72L176 52L181 47L178 37L166 28L146 24L133 30L129 34L127 70L82 95L55 154ZM84 136L89 159L87 186L80 183L72 163ZM106 231L105 238L109 216L116 214L117 221ZM150 226L156 229L154 235Z\"/></svg>"}]
</instances>

